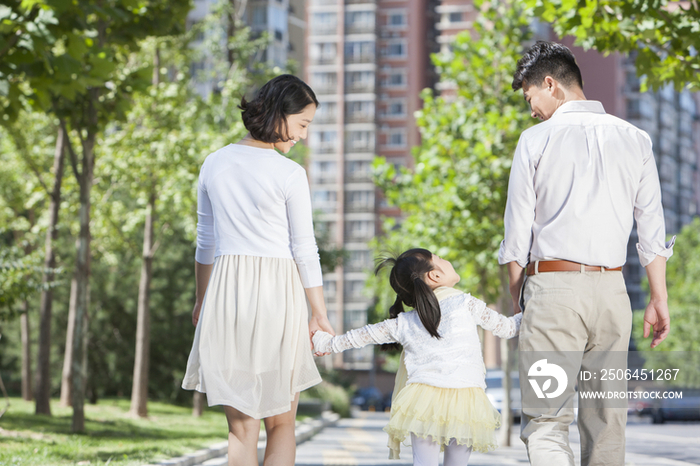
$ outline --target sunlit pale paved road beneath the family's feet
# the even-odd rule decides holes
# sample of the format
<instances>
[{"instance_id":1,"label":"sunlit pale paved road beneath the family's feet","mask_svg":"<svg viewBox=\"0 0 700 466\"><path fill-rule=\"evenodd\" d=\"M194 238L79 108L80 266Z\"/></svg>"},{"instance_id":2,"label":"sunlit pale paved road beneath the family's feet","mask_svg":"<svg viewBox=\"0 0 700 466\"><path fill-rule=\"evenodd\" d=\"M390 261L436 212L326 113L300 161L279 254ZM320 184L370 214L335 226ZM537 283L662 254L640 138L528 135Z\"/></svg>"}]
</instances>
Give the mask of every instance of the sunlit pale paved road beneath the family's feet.
<instances>
[{"instance_id":1,"label":"sunlit pale paved road beneath the family's feet","mask_svg":"<svg viewBox=\"0 0 700 466\"><path fill-rule=\"evenodd\" d=\"M342 419L311 440L297 447L296 466L407 466L412 464L411 448L403 447L400 460L389 460L387 436L382 427L387 413L357 412L353 419ZM511 435L511 446L490 453L474 453L469 466L528 465L525 446L518 437L519 426ZM579 435L570 429L571 447L580 464ZM225 457L200 466L221 466ZM649 418L631 417L627 424L628 466L700 465L700 423L653 425Z\"/></svg>"}]
</instances>

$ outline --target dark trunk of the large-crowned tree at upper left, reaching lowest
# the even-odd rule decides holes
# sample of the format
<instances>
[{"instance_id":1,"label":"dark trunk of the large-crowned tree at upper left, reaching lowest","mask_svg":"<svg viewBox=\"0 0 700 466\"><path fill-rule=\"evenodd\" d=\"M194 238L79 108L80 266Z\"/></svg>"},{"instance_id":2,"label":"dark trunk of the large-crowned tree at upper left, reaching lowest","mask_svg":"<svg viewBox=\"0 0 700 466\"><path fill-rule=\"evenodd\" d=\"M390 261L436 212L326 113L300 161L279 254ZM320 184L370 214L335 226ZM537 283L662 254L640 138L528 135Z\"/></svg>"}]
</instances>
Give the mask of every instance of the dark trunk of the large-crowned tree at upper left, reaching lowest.
<instances>
[{"instance_id":1,"label":"dark trunk of the large-crowned tree at upper left, reaching lowest","mask_svg":"<svg viewBox=\"0 0 700 466\"><path fill-rule=\"evenodd\" d=\"M94 98L94 89L89 91ZM92 119L95 118L94 108L90 108ZM83 371L83 354L85 353L85 321L87 319L88 307L90 305L89 280L90 280L90 191L92 190L93 169L94 169L94 148L97 134L92 130L94 125L90 125L87 137L83 142L82 173L80 174L80 234L78 236L78 255L76 260L76 306L75 306L75 327L73 333L73 357L71 365L73 368L73 422L72 432L85 431L85 378Z\"/></svg>"}]
</instances>

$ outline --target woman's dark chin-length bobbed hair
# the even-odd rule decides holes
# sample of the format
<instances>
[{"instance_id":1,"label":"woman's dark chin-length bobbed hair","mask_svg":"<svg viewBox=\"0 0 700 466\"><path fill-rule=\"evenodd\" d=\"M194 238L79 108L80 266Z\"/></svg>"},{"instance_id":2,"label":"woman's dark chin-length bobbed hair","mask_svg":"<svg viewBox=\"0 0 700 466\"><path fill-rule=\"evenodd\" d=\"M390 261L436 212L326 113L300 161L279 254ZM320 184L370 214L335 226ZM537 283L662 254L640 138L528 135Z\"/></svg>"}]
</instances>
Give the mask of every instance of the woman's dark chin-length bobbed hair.
<instances>
[{"instance_id":1,"label":"woman's dark chin-length bobbed hair","mask_svg":"<svg viewBox=\"0 0 700 466\"><path fill-rule=\"evenodd\" d=\"M316 94L308 84L291 74L282 74L269 80L250 102L243 97L243 124L253 139L262 142L289 141L287 117L296 115L314 104Z\"/></svg>"}]
</instances>

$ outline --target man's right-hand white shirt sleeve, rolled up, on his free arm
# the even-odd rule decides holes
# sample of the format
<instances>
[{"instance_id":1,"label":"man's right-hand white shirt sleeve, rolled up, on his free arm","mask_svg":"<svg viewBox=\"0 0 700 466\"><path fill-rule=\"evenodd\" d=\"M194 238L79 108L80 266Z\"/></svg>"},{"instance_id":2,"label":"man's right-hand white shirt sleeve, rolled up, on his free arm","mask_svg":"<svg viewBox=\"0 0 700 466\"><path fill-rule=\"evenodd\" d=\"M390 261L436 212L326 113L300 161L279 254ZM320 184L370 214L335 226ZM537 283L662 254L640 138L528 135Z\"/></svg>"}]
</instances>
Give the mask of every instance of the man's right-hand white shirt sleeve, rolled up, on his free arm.
<instances>
[{"instance_id":1,"label":"man's right-hand white shirt sleeve, rolled up, on his free arm","mask_svg":"<svg viewBox=\"0 0 700 466\"><path fill-rule=\"evenodd\" d=\"M649 141L643 160L642 176L634 203L634 218L637 221L637 253L642 267L649 265L656 256L668 259L673 255L676 237L666 242L666 222L661 203L661 185L656 161Z\"/></svg>"}]
</instances>

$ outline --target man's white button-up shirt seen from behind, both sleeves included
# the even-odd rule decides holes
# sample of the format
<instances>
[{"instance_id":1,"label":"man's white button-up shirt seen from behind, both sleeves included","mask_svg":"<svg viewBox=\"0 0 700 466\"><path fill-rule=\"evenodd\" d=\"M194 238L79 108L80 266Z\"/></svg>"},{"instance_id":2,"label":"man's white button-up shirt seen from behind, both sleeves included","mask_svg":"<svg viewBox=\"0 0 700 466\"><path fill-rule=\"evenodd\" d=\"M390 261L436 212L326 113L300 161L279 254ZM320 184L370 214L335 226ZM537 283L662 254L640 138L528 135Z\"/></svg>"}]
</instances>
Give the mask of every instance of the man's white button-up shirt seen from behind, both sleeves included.
<instances>
[{"instance_id":1,"label":"man's white button-up shirt seen from behind, both sleeves included","mask_svg":"<svg viewBox=\"0 0 700 466\"><path fill-rule=\"evenodd\" d=\"M642 266L673 254L649 135L600 102L567 102L520 136L498 261L619 267L633 219Z\"/></svg>"}]
</instances>

